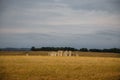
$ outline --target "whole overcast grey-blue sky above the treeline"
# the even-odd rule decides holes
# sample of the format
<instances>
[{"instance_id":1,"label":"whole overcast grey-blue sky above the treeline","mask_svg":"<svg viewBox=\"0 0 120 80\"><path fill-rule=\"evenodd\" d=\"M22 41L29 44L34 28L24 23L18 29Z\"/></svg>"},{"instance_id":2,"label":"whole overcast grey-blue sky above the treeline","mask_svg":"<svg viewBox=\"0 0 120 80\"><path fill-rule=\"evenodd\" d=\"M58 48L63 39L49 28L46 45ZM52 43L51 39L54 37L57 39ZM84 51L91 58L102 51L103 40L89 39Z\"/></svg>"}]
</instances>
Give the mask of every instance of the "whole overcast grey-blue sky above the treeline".
<instances>
[{"instance_id":1,"label":"whole overcast grey-blue sky above the treeline","mask_svg":"<svg viewBox=\"0 0 120 80\"><path fill-rule=\"evenodd\" d=\"M0 0L0 48L120 48L120 0Z\"/></svg>"}]
</instances>

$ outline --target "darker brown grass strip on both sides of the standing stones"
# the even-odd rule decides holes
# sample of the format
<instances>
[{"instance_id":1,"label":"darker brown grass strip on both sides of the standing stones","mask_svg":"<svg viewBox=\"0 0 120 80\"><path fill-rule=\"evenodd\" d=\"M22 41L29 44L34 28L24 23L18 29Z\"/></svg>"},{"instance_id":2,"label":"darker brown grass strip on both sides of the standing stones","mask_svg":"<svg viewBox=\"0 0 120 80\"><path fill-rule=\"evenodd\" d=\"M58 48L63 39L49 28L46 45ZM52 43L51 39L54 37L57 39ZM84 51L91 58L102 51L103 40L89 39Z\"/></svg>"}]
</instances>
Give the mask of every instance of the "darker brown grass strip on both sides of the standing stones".
<instances>
[{"instance_id":1,"label":"darker brown grass strip on both sides of the standing stones","mask_svg":"<svg viewBox=\"0 0 120 80\"><path fill-rule=\"evenodd\" d=\"M120 53L102 53L102 52L79 52L79 51L74 51L73 53L77 53L79 56L84 56L84 57L119 57L120 58ZM40 55L40 56L47 56L48 51L0 51L0 56L25 56L26 54L29 55Z\"/></svg>"}]
</instances>

